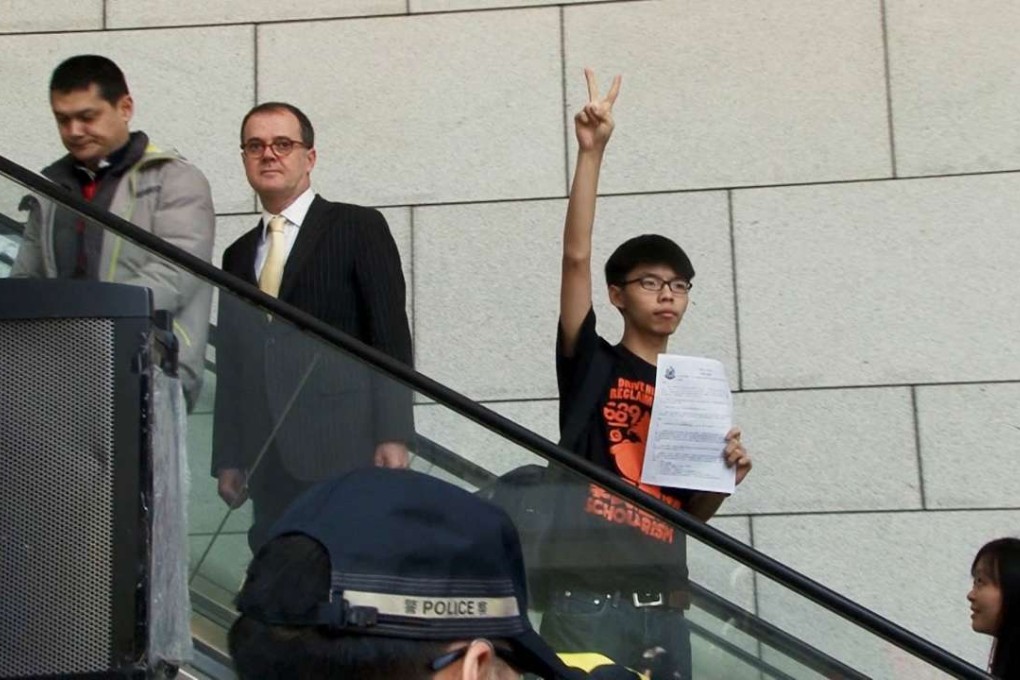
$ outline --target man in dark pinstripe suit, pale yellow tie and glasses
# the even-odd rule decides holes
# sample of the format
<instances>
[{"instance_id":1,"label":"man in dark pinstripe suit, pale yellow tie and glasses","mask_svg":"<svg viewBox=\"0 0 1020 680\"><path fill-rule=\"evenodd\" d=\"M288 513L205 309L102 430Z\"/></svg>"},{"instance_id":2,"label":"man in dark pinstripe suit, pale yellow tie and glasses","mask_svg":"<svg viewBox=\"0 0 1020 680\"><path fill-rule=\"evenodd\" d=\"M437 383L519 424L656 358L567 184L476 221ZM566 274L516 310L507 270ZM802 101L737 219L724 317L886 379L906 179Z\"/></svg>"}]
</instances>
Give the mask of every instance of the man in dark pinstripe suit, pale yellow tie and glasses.
<instances>
[{"instance_id":1,"label":"man in dark pinstripe suit, pale yellow tie and glasses","mask_svg":"<svg viewBox=\"0 0 1020 680\"><path fill-rule=\"evenodd\" d=\"M223 254L223 270L411 364L404 276L373 209L311 190L314 132L291 104L253 108L241 125L262 220ZM290 502L351 469L406 467L411 395L340 352L221 295L212 474L220 498L250 493L257 550Z\"/></svg>"}]
</instances>

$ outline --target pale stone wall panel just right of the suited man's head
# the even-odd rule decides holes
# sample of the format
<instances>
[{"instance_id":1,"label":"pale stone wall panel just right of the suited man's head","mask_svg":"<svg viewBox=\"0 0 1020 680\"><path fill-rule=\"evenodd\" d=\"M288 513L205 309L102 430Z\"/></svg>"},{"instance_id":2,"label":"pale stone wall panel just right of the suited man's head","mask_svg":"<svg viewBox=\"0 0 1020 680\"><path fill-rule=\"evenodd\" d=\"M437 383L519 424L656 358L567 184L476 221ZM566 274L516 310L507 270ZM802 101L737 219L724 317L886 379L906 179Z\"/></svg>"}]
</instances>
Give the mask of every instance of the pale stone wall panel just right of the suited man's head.
<instances>
[{"instance_id":1,"label":"pale stone wall panel just right of the suited man's head","mask_svg":"<svg viewBox=\"0 0 1020 680\"><path fill-rule=\"evenodd\" d=\"M324 193L370 205L562 195L555 8L259 36L259 98L306 109Z\"/></svg>"}]
</instances>

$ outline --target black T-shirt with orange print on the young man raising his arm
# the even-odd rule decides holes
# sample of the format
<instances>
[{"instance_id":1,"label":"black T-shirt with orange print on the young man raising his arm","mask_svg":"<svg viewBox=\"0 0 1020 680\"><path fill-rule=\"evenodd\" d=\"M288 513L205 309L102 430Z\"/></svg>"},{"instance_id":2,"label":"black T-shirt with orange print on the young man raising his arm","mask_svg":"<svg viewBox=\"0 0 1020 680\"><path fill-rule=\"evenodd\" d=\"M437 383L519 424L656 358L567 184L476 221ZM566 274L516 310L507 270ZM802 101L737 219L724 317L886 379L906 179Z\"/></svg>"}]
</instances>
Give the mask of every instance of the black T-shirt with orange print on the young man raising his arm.
<instances>
[{"instance_id":1,"label":"black T-shirt with orange print on the young man raising his arm","mask_svg":"<svg viewBox=\"0 0 1020 680\"><path fill-rule=\"evenodd\" d=\"M608 381L593 386L586 378L597 362L608 364ZM690 498L690 491L640 483L655 397L655 366L623 346L612 346L599 336L594 310L589 311L581 324L572 356L563 355L562 337L557 337L561 429L566 426L572 408L592 411L578 443L573 447L575 453L679 509ZM597 391L593 394L591 389ZM589 484L585 490L581 494L564 494L565 502L579 506L575 512L585 516L584 522L563 523L564 527L572 525L575 535L558 536L561 552L569 548L573 554L572 566L564 568L564 572L572 572L571 578L596 589L674 590L685 584L686 545L679 529L598 485ZM573 514L570 508L563 508L562 512Z\"/></svg>"}]
</instances>

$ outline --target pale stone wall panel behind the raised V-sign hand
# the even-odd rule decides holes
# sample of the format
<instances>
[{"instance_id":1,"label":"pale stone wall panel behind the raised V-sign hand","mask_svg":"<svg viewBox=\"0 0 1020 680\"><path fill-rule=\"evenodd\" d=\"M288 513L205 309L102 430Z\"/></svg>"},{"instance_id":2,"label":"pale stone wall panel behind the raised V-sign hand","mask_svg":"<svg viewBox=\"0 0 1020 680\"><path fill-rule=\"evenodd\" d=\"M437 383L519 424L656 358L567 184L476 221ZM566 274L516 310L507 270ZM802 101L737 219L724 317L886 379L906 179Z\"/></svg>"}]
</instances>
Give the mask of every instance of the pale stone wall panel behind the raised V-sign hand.
<instances>
[{"instance_id":1,"label":"pale stone wall panel behind the raised V-sign hand","mask_svg":"<svg viewBox=\"0 0 1020 680\"><path fill-rule=\"evenodd\" d=\"M567 7L564 36L571 129L582 67L623 74L605 191L890 173L877 2Z\"/></svg>"}]
</instances>

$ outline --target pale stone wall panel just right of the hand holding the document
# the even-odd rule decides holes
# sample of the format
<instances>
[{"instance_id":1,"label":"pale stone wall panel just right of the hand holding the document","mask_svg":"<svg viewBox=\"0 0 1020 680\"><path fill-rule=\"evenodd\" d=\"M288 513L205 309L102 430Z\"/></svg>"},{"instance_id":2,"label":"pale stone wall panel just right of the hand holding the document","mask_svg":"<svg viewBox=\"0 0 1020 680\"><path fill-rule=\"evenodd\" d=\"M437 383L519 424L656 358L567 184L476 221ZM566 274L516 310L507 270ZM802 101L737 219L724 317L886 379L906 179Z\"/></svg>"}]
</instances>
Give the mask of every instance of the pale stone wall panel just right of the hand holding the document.
<instances>
[{"instance_id":1,"label":"pale stone wall panel just right of the hand holding the document","mask_svg":"<svg viewBox=\"0 0 1020 680\"><path fill-rule=\"evenodd\" d=\"M910 389L737 395L754 468L722 513L919 510Z\"/></svg>"}]
</instances>

